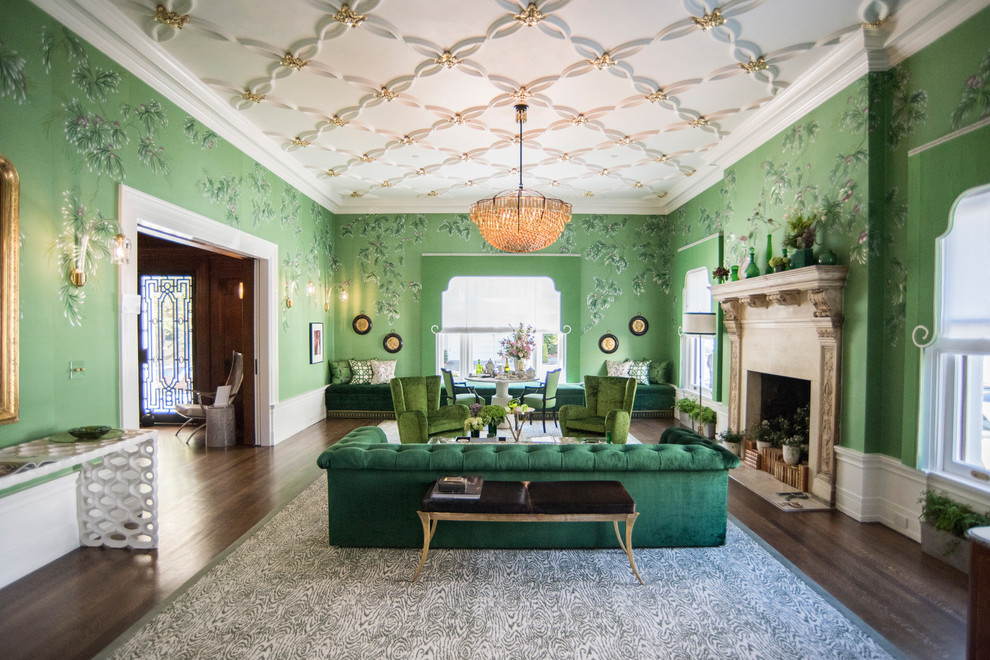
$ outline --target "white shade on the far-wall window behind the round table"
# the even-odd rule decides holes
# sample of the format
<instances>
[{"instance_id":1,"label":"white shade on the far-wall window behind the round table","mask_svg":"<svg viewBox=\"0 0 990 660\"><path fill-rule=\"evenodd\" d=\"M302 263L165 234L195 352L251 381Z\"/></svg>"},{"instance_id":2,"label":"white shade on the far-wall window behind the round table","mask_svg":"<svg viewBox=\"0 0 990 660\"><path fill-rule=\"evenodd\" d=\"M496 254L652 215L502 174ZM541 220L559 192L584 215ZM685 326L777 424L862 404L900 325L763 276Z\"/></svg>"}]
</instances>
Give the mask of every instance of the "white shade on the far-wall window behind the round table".
<instances>
[{"instance_id":1,"label":"white shade on the far-wall window behind the round table","mask_svg":"<svg viewBox=\"0 0 990 660\"><path fill-rule=\"evenodd\" d=\"M508 333L519 323L560 332L560 292L549 277L454 277L442 305L443 332Z\"/></svg>"}]
</instances>

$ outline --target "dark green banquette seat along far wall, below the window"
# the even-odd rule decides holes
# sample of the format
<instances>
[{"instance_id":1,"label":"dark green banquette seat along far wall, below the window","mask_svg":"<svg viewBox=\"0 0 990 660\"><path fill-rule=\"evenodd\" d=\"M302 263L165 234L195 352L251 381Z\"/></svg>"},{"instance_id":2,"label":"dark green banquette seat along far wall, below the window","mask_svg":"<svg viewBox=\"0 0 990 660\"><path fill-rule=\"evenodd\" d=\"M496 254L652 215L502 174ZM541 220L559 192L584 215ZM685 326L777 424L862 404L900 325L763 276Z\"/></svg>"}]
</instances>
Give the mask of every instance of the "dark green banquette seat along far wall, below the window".
<instances>
[{"instance_id":1,"label":"dark green banquette seat along far wall, below the window","mask_svg":"<svg viewBox=\"0 0 990 660\"><path fill-rule=\"evenodd\" d=\"M495 383L470 383L471 387L489 403L495 394ZM510 385L509 396L522 394L522 385ZM446 391L445 391L446 392ZM446 394L444 394L446 397ZM323 393L327 417L356 417L391 419L392 391L389 385L353 385L351 383L327 385ZM651 383L636 386L633 417L672 417L675 390L667 383ZM584 405L582 383L561 383L557 386L557 406Z\"/></svg>"}]
</instances>

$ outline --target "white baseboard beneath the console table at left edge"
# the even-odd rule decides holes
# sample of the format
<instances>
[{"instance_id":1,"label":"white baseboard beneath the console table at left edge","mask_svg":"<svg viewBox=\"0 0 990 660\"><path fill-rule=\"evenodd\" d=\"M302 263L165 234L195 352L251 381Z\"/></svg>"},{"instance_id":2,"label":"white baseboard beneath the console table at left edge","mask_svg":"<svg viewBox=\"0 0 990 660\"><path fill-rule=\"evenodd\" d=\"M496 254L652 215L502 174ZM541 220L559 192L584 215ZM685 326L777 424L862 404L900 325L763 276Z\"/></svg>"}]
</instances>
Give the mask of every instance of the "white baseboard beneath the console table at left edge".
<instances>
[{"instance_id":1,"label":"white baseboard beneath the console table at left edge","mask_svg":"<svg viewBox=\"0 0 990 660\"><path fill-rule=\"evenodd\" d=\"M0 498L0 587L79 547L75 473Z\"/></svg>"}]
</instances>

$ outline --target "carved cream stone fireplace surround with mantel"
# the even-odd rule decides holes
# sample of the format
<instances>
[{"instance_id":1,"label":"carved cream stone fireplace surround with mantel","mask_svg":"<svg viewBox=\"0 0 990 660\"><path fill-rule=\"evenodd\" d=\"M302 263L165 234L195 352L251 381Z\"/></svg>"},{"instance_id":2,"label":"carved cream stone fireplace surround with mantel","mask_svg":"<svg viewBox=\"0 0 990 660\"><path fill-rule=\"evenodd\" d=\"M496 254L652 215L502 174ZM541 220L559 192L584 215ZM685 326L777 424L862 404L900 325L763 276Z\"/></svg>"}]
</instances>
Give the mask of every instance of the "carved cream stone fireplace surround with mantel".
<instances>
[{"instance_id":1,"label":"carved cream stone fireplace surround with mantel","mask_svg":"<svg viewBox=\"0 0 990 660\"><path fill-rule=\"evenodd\" d=\"M716 284L729 335L729 428L761 421L760 374L811 383L811 493L835 503L846 266L810 266Z\"/></svg>"}]
</instances>

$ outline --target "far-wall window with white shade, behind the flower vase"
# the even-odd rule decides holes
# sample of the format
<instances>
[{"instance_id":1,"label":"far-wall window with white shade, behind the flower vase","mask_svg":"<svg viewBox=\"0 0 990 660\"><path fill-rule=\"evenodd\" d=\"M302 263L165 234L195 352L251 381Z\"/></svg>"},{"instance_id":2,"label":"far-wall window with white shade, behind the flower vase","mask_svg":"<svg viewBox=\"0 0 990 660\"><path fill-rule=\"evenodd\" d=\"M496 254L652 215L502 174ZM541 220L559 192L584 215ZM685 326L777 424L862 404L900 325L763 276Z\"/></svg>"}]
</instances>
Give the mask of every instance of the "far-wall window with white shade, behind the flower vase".
<instances>
[{"instance_id":1,"label":"far-wall window with white shade, behind the flower vase","mask_svg":"<svg viewBox=\"0 0 990 660\"><path fill-rule=\"evenodd\" d=\"M533 326L536 348L526 368L543 380L561 369L566 354L560 332L560 292L549 277L454 277L442 296L443 330L437 334L437 369L468 375L488 360L503 368L500 340L520 323ZM510 368L514 368L510 362Z\"/></svg>"}]
</instances>

